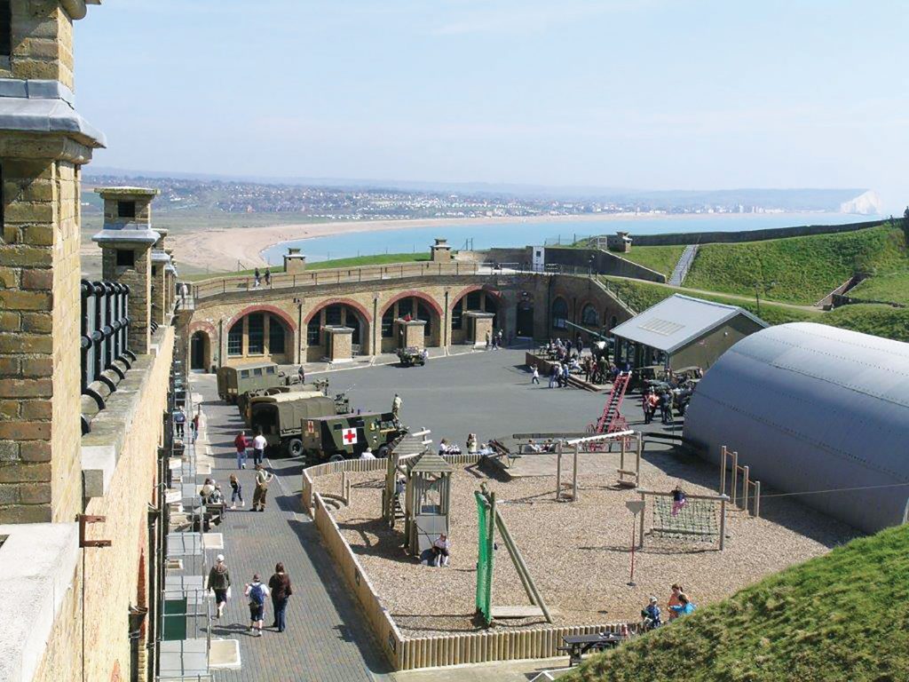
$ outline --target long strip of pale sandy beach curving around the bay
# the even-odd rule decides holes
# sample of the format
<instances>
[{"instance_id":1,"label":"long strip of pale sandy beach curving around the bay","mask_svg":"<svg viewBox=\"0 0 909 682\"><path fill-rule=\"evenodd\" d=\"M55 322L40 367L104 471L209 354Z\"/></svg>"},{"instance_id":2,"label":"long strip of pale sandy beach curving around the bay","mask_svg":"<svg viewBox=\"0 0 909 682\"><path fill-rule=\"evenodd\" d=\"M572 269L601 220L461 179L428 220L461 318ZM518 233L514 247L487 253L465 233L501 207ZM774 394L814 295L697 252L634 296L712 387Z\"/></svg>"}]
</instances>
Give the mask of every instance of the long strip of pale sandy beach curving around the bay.
<instances>
[{"instance_id":1,"label":"long strip of pale sandy beach curving around the bay","mask_svg":"<svg viewBox=\"0 0 909 682\"><path fill-rule=\"evenodd\" d=\"M621 213L621 214L586 214L582 216L478 216L454 218L407 218L401 220L375 220L375 221L333 221L330 223L301 223L291 225L255 226L255 227L230 227L226 229L212 229L205 232L191 234L178 234L171 237L178 263L200 270L231 271L235 270L238 262L246 267L265 267L267 262L263 257L265 250L287 242L312 239L325 236L346 236L358 233L373 233L389 230L402 230L412 228L430 228L445 226L481 226L481 225L520 225L522 223L540 224L549 223L584 223L608 225L616 221L647 221L665 219L684 222L685 220L742 220L746 223L750 217L756 216L793 216L794 224L810 223L810 216L844 215L829 211L810 213L772 213L772 214L658 214L658 213ZM850 216L861 221L872 216ZM604 229L604 231L606 231ZM437 236L445 236L441 232ZM427 242L426 246L429 244Z\"/></svg>"}]
</instances>

